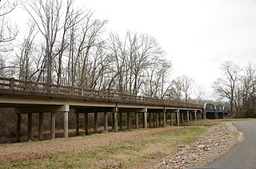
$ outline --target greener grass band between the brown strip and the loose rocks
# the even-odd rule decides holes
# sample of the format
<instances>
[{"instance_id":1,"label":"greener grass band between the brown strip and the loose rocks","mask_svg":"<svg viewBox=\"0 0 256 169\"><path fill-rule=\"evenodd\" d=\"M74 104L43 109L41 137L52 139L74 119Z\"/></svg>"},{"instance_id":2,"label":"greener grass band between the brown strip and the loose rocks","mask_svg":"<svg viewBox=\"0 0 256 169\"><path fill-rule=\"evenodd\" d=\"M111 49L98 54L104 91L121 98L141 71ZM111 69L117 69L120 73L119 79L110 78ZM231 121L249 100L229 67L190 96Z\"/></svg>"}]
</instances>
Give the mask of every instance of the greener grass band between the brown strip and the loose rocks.
<instances>
[{"instance_id":1,"label":"greener grass band between the brown strip and the loose rocks","mask_svg":"<svg viewBox=\"0 0 256 169\"><path fill-rule=\"evenodd\" d=\"M126 168L167 155L178 147L194 142L206 127L168 127L167 132L134 137L100 147L81 147L40 159L6 163L0 168ZM151 130L151 129L149 129ZM152 129L153 130L153 129ZM156 130L156 129L154 129ZM139 133L139 131L137 131ZM122 133L121 133L122 134ZM150 166L149 166L150 167Z\"/></svg>"}]
</instances>

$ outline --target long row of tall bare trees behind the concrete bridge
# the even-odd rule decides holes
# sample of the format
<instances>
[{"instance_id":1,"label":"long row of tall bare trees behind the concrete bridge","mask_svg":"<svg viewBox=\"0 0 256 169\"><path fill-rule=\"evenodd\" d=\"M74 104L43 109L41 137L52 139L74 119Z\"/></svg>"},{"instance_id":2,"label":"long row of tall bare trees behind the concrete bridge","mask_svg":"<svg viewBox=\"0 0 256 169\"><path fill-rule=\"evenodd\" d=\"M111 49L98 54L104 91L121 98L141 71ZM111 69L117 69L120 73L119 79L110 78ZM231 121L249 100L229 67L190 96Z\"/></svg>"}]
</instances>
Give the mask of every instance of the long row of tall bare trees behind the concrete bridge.
<instances>
[{"instance_id":1,"label":"long row of tall bare trees behind the concrete bridge","mask_svg":"<svg viewBox=\"0 0 256 169\"><path fill-rule=\"evenodd\" d=\"M18 28L8 20L17 6L30 16L21 43L15 41ZM0 11L1 77L191 100L194 80L186 75L171 79L171 61L149 34L106 33L108 21L94 18L94 12L73 0L5 1ZM202 96L199 88L197 100Z\"/></svg>"}]
</instances>

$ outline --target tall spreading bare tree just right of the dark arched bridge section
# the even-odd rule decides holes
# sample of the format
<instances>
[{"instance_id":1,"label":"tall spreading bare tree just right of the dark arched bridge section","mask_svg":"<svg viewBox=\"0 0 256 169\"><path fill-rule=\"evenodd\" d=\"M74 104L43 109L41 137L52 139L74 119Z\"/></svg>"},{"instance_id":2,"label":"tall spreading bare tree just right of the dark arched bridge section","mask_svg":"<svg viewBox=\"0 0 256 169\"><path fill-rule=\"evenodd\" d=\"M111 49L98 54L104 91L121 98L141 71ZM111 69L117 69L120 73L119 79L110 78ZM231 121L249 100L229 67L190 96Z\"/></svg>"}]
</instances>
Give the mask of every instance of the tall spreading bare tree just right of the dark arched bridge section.
<instances>
[{"instance_id":1,"label":"tall spreading bare tree just right of the dark arched bridge section","mask_svg":"<svg viewBox=\"0 0 256 169\"><path fill-rule=\"evenodd\" d=\"M229 100L230 114L233 116L234 104L236 104L234 94L239 80L240 68L232 61L225 61L222 64L221 70L223 72L222 77L214 81L212 87L214 88L214 92L218 93L222 99Z\"/></svg>"}]
</instances>

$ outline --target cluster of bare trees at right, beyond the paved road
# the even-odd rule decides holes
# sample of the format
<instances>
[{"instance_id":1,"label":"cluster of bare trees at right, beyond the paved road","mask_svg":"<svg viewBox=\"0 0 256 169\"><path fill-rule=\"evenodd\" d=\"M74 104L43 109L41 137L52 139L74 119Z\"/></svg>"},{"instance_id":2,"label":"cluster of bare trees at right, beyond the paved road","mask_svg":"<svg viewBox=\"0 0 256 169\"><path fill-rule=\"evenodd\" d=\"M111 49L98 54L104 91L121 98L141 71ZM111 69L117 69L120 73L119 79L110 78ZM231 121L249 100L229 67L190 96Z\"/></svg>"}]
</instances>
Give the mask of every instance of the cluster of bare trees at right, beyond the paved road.
<instances>
[{"instance_id":1,"label":"cluster of bare trees at right, beyond the paved road","mask_svg":"<svg viewBox=\"0 0 256 169\"><path fill-rule=\"evenodd\" d=\"M256 65L240 67L232 61L221 66L222 77L213 83L219 98L230 103L231 116L255 117L256 112Z\"/></svg>"}]
</instances>

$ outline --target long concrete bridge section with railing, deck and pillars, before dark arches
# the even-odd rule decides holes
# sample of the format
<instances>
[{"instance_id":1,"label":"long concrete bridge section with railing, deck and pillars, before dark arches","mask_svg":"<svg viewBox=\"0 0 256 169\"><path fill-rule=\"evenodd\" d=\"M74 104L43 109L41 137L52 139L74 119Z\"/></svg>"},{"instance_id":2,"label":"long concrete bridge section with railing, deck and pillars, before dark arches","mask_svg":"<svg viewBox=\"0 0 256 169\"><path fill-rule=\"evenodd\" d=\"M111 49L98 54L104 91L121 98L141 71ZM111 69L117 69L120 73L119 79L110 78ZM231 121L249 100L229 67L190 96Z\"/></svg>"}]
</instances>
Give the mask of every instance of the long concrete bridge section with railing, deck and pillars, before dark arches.
<instances>
[{"instance_id":1,"label":"long concrete bridge section with railing, deck and pillars, before dark arches","mask_svg":"<svg viewBox=\"0 0 256 169\"><path fill-rule=\"evenodd\" d=\"M32 139L32 113L39 113L38 140L43 140L43 113L50 112L51 139L55 138L55 113L63 113L64 137L68 137L68 114L76 113L76 133L79 132L79 114L85 116L85 133L88 134L88 113L94 113L94 132L98 132L98 113L104 113L104 130L108 128L108 118L112 117L114 132L122 129L122 114L127 116L130 129L131 113L135 114L135 127L139 128L138 116L142 116L142 128L166 125L167 115L171 125L185 121L206 118L204 105L160 100L133 96L117 92L94 91L62 85L48 85L34 81L20 81L0 77L0 108L14 108L17 114L16 140L20 141L21 115L28 116L27 140ZM162 118L161 118L162 117Z\"/></svg>"}]
</instances>

